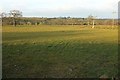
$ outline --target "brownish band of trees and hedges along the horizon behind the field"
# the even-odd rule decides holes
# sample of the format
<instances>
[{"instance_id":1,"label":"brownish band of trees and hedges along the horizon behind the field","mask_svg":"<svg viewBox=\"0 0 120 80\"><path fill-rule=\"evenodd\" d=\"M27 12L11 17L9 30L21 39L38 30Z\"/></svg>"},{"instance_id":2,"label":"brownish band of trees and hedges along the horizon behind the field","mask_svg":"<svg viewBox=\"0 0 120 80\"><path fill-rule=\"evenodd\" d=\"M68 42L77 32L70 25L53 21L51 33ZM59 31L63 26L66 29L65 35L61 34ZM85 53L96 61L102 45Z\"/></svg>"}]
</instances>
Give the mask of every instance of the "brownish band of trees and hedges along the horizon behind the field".
<instances>
[{"instance_id":1,"label":"brownish band of trees and hedges along the horizon behind the field","mask_svg":"<svg viewBox=\"0 0 120 80\"><path fill-rule=\"evenodd\" d=\"M4 25L112 25L112 19L97 19L92 15L87 18L74 18L74 17L22 17L22 12L19 10L11 10L8 15L1 13L2 24ZM118 24L115 19L114 25Z\"/></svg>"}]
</instances>

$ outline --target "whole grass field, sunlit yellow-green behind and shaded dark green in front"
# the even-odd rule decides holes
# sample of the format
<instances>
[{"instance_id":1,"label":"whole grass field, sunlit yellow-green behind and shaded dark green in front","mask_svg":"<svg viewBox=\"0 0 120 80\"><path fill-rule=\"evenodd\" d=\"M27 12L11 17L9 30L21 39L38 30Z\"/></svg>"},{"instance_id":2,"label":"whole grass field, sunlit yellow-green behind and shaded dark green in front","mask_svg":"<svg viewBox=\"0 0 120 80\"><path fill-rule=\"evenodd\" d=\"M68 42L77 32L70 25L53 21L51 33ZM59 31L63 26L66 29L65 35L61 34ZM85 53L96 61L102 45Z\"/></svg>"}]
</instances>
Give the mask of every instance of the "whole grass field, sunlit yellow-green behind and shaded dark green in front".
<instances>
[{"instance_id":1,"label":"whole grass field, sunlit yellow-green behind and shaded dark green in front","mask_svg":"<svg viewBox=\"0 0 120 80\"><path fill-rule=\"evenodd\" d=\"M3 78L117 76L117 29L3 27Z\"/></svg>"}]
</instances>

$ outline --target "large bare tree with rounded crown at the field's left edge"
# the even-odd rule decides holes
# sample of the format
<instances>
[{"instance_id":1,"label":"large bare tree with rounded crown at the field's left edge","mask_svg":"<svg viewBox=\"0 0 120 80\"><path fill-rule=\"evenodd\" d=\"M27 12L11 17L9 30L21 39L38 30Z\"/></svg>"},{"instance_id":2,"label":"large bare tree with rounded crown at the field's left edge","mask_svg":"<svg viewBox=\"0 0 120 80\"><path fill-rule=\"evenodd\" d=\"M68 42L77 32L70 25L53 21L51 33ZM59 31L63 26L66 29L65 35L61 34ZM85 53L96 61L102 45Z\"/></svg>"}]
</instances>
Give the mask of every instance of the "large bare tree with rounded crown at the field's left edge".
<instances>
[{"instance_id":1,"label":"large bare tree with rounded crown at the field's left edge","mask_svg":"<svg viewBox=\"0 0 120 80\"><path fill-rule=\"evenodd\" d=\"M9 14L10 14L10 17L13 18L13 26L16 26L17 25L16 18L22 17L22 12L19 10L11 10Z\"/></svg>"}]
</instances>

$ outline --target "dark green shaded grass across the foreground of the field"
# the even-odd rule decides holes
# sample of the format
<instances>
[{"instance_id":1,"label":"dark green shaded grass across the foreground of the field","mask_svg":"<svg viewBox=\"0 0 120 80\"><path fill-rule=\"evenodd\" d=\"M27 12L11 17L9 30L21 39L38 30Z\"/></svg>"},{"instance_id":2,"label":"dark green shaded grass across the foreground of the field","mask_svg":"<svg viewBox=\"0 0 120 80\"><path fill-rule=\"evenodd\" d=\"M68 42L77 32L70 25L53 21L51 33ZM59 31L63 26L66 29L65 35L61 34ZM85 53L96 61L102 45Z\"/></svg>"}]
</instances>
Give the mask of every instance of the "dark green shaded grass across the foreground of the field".
<instances>
[{"instance_id":1,"label":"dark green shaded grass across the foreground of the field","mask_svg":"<svg viewBox=\"0 0 120 80\"><path fill-rule=\"evenodd\" d=\"M117 44L3 44L3 78L117 76Z\"/></svg>"}]
</instances>

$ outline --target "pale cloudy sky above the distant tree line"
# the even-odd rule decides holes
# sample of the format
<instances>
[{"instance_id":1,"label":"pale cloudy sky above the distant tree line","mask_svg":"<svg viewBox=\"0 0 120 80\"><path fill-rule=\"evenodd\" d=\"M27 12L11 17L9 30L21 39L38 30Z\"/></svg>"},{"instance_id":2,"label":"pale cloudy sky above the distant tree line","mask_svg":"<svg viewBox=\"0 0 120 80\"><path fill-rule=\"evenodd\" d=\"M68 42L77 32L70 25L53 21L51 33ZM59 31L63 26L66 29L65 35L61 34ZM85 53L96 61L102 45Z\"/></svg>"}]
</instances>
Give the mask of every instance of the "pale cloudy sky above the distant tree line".
<instances>
[{"instance_id":1,"label":"pale cloudy sky above the distant tree line","mask_svg":"<svg viewBox=\"0 0 120 80\"><path fill-rule=\"evenodd\" d=\"M20 10L24 17L117 18L119 0L0 0L0 13Z\"/></svg>"}]
</instances>

